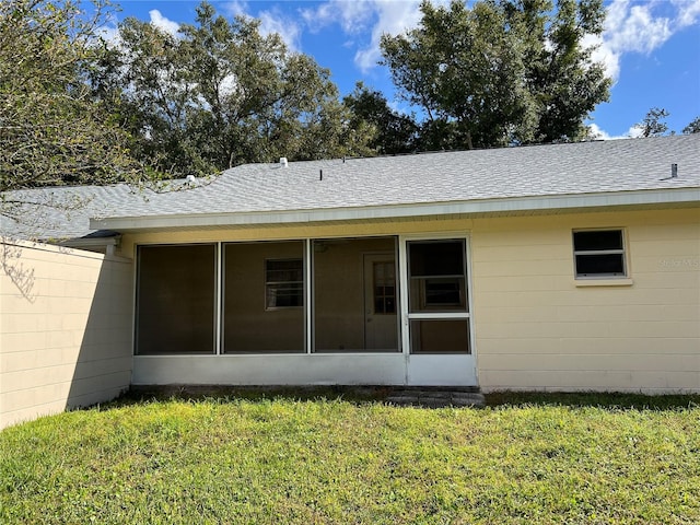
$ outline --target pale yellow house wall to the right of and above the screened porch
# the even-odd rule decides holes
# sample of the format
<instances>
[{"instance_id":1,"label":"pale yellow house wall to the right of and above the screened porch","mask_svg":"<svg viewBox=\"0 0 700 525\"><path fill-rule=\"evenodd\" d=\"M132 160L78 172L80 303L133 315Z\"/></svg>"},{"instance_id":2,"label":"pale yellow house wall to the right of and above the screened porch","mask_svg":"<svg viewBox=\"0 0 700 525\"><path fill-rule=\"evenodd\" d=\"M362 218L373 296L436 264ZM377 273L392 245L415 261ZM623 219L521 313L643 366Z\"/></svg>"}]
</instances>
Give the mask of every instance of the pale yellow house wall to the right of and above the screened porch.
<instances>
[{"instance_id":1,"label":"pale yellow house wall to the right of and above the screened porch","mask_svg":"<svg viewBox=\"0 0 700 525\"><path fill-rule=\"evenodd\" d=\"M572 230L596 228L625 231L629 279L574 279ZM485 390L700 392L698 208L150 233L122 247L445 232L470 238Z\"/></svg>"}]
</instances>

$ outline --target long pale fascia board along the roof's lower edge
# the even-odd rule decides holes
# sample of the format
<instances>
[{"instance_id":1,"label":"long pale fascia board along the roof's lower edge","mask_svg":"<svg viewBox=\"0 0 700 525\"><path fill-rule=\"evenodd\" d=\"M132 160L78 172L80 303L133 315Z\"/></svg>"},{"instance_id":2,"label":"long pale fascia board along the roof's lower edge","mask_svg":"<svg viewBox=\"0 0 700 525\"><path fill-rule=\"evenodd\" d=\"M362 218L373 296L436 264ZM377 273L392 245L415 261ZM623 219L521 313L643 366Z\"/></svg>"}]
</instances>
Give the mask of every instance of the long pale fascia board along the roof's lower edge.
<instances>
[{"instance_id":1,"label":"long pale fascia board along the roof's lower edge","mask_svg":"<svg viewBox=\"0 0 700 525\"><path fill-rule=\"evenodd\" d=\"M226 213L182 213L91 219L90 228L136 232L180 228L222 228L266 224L305 224L317 222L400 219L409 217L521 214L557 210L585 210L640 206L700 205L700 187L568 194L502 199L421 202L366 206L353 208L319 208Z\"/></svg>"}]
</instances>

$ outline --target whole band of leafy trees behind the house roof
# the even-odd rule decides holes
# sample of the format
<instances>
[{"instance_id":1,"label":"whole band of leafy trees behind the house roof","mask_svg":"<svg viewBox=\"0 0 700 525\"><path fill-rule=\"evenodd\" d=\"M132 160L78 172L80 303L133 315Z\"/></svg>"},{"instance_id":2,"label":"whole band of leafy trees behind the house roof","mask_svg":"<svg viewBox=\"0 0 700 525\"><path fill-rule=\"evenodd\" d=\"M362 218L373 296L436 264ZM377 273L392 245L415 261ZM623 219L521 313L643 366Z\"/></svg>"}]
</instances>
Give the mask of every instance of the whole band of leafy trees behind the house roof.
<instances>
[{"instance_id":1,"label":"whole band of leafy trees behind the house roof","mask_svg":"<svg viewBox=\"0 0 700 525\"><path fill-rule=\"evenodd\" d=\"M4 203L13 189L212 174L279 156L580 140L610 85L584 46L603 31L602 0L423 1L418 27L381 42L420 119L362 83L340 100L313 58L206 2L177 34L130 18L107 42L107 1L0 3ZM667 131L664 112L650 112L643 135ZM696 118L684 132L699 129Z\"/></svg>"}]
</instances>

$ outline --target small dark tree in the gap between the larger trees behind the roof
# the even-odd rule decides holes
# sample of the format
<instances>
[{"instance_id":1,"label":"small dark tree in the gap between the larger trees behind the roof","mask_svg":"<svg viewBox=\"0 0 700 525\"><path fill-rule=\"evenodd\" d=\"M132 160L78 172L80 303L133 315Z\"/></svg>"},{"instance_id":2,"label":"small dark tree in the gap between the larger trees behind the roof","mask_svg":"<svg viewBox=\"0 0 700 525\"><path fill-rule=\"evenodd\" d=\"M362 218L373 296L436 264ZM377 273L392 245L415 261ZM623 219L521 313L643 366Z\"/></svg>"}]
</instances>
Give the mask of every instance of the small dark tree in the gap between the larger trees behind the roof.
<instances>
[{"instance_id":1,"label":"small dark tree in the gap between the larger trees behind the roof","mask_svg":"<svg viewBox=\"0 0 700 525\"><path fill-rule=\"evenodd\" d=\"M418 124L413 118L393 110L378 91L358 82L354 91L342 102L352 112L351 127L357 128L366 122L374 128L375 136L369 145L377 153L409 153L419 148Z\"/></svg>"}]
</instances>

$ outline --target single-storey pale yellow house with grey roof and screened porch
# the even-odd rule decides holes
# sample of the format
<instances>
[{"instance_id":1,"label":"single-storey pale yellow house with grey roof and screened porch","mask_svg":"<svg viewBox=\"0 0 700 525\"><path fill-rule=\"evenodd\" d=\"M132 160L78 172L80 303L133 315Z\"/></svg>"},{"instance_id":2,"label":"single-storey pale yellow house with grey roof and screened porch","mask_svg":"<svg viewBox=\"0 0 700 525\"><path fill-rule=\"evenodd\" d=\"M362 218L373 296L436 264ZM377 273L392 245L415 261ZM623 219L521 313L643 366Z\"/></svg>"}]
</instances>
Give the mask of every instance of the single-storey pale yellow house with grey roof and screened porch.
<instances>
[{"instance_id":1,"label":"single-storey pale yellow house with grey roof and screened porch","mask_svg":"<svg viewBox=\"0 0 700 525\"><path fill-rule=\"evenodd\" d=\"M79 195L40 235L127 265L131 384L700 392L699 152L282 159L24 197Z\"/></svg>"}]
</instances>

